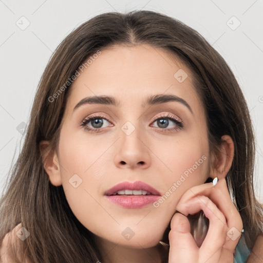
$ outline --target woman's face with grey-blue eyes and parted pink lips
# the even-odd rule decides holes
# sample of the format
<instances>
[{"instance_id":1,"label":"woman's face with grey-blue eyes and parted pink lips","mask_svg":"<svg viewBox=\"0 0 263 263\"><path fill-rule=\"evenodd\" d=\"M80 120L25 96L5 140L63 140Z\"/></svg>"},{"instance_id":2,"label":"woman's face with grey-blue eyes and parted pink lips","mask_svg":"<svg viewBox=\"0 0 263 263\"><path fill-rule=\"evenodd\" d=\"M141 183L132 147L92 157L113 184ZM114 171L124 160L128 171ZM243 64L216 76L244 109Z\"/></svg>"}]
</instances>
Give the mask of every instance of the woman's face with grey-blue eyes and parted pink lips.
<instances>
[{"instance_id":1,"label":"woman's face with grey-blue eyes and parted pink lips","mask_svg":"<svg viewBox=\"0 0 263 263\"><path fill-rule=\"evenodd\" d=\"M88 65L70 87L60 134L58 161L67 201L101 241L153 247L182 194L209 177L205 114L191 72L149 45L111 47ZM155 97L168 95L177 99ZM93 96L92 103L74 109ZM114 98L116 105L98 103L99 96ZM90 116L97 118L83 123ZM138 187L152 195L105 195L121 182L136 181L160 196L143 185Z\"/></svg>"}]
</instances>

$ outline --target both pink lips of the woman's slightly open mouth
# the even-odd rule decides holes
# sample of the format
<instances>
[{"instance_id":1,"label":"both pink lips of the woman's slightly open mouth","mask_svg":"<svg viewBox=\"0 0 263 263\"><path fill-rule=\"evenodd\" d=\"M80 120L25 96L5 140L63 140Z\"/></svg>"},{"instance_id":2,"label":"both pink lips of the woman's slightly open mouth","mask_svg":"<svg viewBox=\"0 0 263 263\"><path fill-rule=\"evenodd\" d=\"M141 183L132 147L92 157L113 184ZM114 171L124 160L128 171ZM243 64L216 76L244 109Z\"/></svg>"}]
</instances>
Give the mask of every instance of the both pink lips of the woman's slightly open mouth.
<instances>
[{"instance_id":1,"label":"both pink lips of the woman's slightly open mouth","mask_svg":"<svg viewBox=\"0 0 263 263\"><path fill-rule=\"evenodd\" d=\"M112 195L118 191L121 190L144 190L151 195L126 195L126 196L121 196L121 195ZM136 181L134 183L131 182L122 182L111 189L107 190L104 193L105 197L111 201L112 203L115 203L117 205L120 205L124 208L129 208L129 209L138 209L142 208L143 206L148 205L149 203L153 203L157 201L161 194L158 192L156 189L154 189L152 186L141 182L141 181Z\"/></svg>"}]
</instances>

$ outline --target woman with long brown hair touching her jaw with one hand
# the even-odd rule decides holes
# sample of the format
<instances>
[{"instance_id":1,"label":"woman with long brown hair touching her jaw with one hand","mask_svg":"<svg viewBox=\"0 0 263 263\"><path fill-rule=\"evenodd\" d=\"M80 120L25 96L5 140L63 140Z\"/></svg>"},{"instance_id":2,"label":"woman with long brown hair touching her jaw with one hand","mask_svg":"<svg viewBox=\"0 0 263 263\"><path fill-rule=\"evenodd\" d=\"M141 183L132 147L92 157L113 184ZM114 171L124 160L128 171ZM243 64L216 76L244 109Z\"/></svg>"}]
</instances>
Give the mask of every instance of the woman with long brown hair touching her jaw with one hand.
<instances>
[{"instance_id":1,"label":"woman with long brown hair touching her jaw with one hand","mask_svg":"<svg viewBox=\"0 0 263 263\"><path fill-rule=\"evenodd\" d=\"M241 89L200 34L152 11L93 17L43 73L1 200L2 260L262 260L254 147Z\"/></svg>"}]
</instances>

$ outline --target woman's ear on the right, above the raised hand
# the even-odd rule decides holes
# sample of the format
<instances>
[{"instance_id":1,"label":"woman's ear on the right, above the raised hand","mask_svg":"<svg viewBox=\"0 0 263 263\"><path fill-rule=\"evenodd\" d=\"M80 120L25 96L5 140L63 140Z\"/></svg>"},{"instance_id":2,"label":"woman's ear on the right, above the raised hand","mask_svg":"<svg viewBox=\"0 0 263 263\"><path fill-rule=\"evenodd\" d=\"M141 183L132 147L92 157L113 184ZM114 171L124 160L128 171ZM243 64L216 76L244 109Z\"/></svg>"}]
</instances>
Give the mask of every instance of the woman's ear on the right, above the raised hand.
<instances>
[{"instance_id":1,"label":"woman's ear on the right, above the raised hand","mask_svg":"<svg viewBox=\"0 0 263 263\"><path fill-rule=\"evenodd\" d=\"M220 152L217 156L212 155L210 175L218 180L225 178L230 170L234 157L234 142L229 135L221 137Z\"/></svg>"}]
</instances>

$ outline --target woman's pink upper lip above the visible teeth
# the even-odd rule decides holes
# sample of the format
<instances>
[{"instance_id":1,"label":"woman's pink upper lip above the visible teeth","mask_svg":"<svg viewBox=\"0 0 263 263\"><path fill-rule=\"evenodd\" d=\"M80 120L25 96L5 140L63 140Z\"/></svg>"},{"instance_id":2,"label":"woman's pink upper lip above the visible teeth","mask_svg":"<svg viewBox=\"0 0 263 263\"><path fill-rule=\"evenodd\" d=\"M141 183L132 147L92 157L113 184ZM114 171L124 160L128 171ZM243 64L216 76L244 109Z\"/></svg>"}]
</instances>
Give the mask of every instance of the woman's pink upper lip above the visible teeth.
<instances>
[{"instance_id":1,"label":"woman's pink upper lip above the visible teeth","mask_svg":"<svg viewBox=\"0 0 263 263\"><path fill-rule=\"evenodd\" d=\"M136 181L136 182L121 182L116 184L115 186L111 187L111 189L107 190L104 195L113 195L114 193L121 191L121 190L144 190L152 195L161 195L159 191L154 189L151 185L147 183Z\"/></svg>"}]
</instances>

